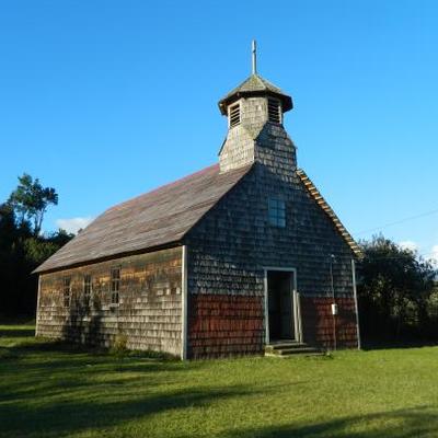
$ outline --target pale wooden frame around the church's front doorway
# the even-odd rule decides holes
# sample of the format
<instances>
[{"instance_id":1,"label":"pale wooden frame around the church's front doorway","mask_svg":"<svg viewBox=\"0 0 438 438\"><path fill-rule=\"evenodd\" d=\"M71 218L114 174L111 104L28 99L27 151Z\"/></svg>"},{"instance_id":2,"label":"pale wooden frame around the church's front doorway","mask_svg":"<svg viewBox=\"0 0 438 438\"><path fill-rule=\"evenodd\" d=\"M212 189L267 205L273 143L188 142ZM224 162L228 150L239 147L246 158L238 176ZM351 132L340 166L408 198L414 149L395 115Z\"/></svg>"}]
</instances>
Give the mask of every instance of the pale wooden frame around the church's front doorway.
<instances>
[{"instance_id":1,"label":"pale wooden frame around the church's front doorway","mask_svg":"<svg viewBox=\"0 0 438 438\"><path fill-rule=\"evenodd\" d=\"M284 272L291 273L292 281L290 290L292 295L292 315L293 315L293 333L297 342L302 342L302 327L301 327L301 307L300 296L297 290L297 268L295 267L280 267L280 266L265 266L263 268L263 283L264 283L264 301L265 301L265 344L269 344L269 299L268 299L268 285L267 285L267 273L268 272Z\"/></svg>"}]
</instances>

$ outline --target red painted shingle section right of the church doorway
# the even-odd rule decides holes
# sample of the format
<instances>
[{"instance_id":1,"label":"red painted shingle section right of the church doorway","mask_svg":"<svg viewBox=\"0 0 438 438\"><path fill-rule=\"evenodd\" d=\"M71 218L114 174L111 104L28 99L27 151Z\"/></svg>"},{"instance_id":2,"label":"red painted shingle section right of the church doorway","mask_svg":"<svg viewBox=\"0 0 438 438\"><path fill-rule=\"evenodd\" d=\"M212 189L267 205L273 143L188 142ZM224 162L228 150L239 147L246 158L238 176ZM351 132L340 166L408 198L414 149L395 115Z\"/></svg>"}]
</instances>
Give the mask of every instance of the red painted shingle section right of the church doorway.
<instances>
[{"instance_id":1,"label":"red painted shingle section right of the church doorway","mask_svg":"<svg viewBox=\"0 0 438 438\"><path fill-rule=\"evenodd\" d=\"M334 348L357 348L357 326L354 298L336 298L338 314L333 316L330 297L301 297L303 341L310 345Z\"/></svg>"}]
</instances>

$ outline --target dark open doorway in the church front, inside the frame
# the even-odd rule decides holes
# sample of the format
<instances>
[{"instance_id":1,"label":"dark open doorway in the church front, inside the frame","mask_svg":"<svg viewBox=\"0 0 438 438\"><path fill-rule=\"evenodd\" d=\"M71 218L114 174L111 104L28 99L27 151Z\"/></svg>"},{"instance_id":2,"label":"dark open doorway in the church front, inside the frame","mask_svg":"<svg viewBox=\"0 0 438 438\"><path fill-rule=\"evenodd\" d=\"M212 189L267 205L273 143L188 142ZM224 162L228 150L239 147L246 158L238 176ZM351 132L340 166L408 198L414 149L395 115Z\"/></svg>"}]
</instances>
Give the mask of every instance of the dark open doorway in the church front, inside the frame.
<instances>
[{"instance_id":1,"label":"dark open doorway in the church front, inside the frame","mask_svg":"<svg viewBox=\"0 0 438 438\"><path fill-rule=\"evenodd\" d=\"M269 341L295 339L293 273L267 272Z\"/></svg>"}]
</instances>

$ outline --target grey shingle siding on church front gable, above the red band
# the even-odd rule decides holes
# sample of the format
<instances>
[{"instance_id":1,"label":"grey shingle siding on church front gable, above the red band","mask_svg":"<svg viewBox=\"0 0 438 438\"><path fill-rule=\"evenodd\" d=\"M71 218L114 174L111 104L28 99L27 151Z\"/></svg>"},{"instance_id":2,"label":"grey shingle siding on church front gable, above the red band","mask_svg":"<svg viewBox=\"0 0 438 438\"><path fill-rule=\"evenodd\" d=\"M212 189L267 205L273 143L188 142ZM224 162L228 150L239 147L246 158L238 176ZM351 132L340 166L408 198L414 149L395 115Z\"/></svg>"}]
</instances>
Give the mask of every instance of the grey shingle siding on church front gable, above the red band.
<instances>
[{"instance_id":1,"label":"grey shingle siding on church front gable, above the red band","mask_svg":"<svg viewBox=\"0 0 438 438\"><path fill-rule=\"evenodd\" d=\"M264 267L274 266L297 269L298 292L302 297L328 298L332 296L332 254L335 256L336 297L353 300L350 261L354 254L298 177L295 147L281 126L265 126L258 136L255 154L258 162L252 171L186 237L189 300L203 293L262 298ZM269 226L269 197L286 201L286 228ZM196 312L195 308L189 309ZM263 306L260 318L264 320ZM189 322L193 320L196 315L189 315ZM229 321L232 331L232 319ZM309 324L312 321L304 318L304 335L310 333L307 331ZM195 333L191 328L189 333L188 355L191 351L198 355L199 343L195 348L191 344ZM211 338L217 337L212 331L209 333ZM196 336L205 338L206 345L209 342L205 327L199 327ZM257 345L253 353L262 353L264 338L257 338ZM311 341L319 343L316 335ZM247 350L242 344L240 351L234 346L228 353L244 354ZM220 355L227 355L226 347Z\"/></svg>"}]
</instances>

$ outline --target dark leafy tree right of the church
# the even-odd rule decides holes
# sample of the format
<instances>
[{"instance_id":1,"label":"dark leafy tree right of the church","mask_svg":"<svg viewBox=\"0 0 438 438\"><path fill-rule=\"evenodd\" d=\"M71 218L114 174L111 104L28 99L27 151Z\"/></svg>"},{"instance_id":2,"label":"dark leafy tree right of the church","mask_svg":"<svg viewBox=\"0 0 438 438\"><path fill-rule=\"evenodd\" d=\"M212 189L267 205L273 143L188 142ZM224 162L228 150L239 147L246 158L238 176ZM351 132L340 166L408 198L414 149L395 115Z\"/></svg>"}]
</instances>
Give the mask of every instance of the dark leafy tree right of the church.
<instances>
[{"instance_id":1,"label":"dark leafy tree right of the church","mask_svg":"<svg viewBox=\"0 0 438 438\"><path fill-rule=\"evenodd\" d=\"M383 235L361 246L365 257L358 266L358 293L364 333L400 337L427 332L437 275L433 265Z\"/></svg>"}]
</instances>

